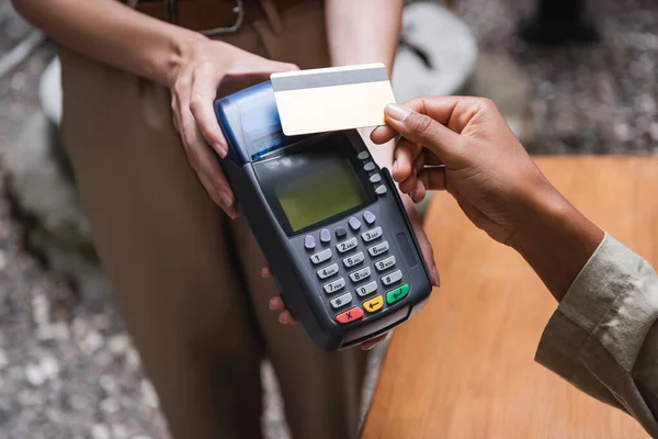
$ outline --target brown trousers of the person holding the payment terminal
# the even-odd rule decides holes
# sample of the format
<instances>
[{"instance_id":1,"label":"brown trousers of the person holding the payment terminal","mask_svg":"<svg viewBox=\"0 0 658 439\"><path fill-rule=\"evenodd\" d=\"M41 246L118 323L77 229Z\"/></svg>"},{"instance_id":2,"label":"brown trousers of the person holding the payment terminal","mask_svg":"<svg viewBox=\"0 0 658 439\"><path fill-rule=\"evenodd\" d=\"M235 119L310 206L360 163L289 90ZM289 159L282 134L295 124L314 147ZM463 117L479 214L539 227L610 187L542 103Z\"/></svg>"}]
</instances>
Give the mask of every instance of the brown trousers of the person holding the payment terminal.
<instances>
[{"instance_id":1,"label":"brown trousers of the person holding the payment terminal","mask_svg":"<svg viewBox=\"0 0 658 439\"><path fill-rule=\"evenodd\" d=\"M300 67L328 64L324 13L282 14L226 41ZM138 43L138 42L137 42ZM169 92L60 52L64 139L103 267L177 439L261 437L268 357L295 438L358 436L365 356L328 353L268 309L276 294L243 221L213 204L188 165Z\"/></svg>"}]
</instances>

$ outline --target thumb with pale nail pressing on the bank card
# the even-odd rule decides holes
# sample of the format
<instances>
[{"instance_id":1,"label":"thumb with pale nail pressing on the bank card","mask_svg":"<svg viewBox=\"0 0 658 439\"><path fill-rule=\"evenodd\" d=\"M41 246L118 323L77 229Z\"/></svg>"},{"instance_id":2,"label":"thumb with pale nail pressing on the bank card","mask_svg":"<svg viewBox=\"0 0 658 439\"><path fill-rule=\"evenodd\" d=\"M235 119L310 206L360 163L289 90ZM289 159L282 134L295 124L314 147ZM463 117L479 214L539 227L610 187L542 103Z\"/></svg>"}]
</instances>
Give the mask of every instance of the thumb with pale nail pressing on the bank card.
<instances>
[{"instance_id":1,"label":"thumb with pale nail pressing on the bank card","mask_svg":"<svg viewBox=\"0 0 658 439\"><path fill-rule=\"evenodd\" d=\"M386 105L384 114L393 130L431 150L443 164L449 165L456 158L463 143L462 136L432 117L395 103Z\"/></svg>"}]
</instances>

